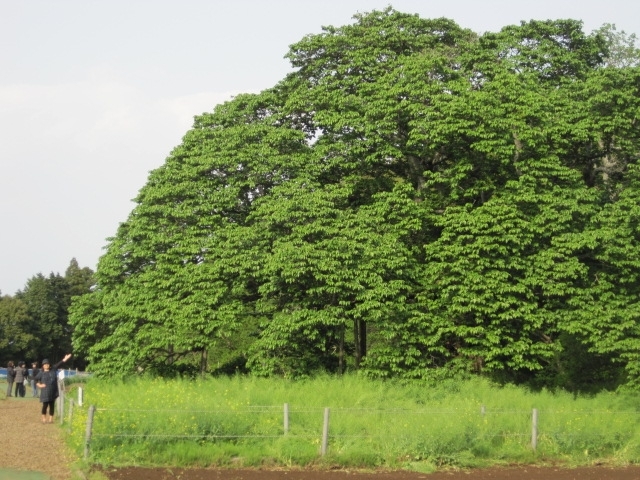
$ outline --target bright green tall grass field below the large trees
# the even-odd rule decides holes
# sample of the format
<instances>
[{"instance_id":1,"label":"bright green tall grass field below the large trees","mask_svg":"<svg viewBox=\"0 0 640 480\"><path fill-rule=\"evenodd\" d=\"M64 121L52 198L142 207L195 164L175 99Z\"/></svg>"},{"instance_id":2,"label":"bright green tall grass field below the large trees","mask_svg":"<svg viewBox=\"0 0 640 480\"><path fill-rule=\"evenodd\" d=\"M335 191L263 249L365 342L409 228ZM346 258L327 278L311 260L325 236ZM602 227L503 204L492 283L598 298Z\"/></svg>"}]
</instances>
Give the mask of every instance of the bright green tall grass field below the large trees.
<instances>
[{"instance_id":1,"label":"bright green tall grass field below the large trees","mask_svg":"<svg viewBox=\"0 0 640 480\"><path fill-rule=\"evenodd\" d=\"M78 455L103 465L431 472L640 462L640 399L630 394L574 397L480 378L438 386L357 376L90 379L78 406L78 385L65 397L63 429Z\"/></svg>"}]
</instances>

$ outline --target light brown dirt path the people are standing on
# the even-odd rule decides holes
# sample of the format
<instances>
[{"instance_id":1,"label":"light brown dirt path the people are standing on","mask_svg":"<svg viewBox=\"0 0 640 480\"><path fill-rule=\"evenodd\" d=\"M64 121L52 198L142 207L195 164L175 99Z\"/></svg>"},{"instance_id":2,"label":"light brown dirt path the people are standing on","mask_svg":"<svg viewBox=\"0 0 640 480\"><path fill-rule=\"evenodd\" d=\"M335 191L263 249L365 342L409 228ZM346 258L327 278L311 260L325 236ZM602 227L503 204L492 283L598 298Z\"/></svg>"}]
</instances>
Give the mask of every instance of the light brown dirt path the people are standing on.
<instances>
[{"instance_id":1,"label":"light brown dirt path the people are standing on","mask_svg":"<svg viewBox=\"0 0 640 480\"><path fill-rule=\"evenodd\" d=\"M57 424L40 422L40 402L34 398L0 397L0 469L43 472L52 480L68 480L72 459ZM31 390L27 389L27 395Z\"/></svg>"}]
</instances>

